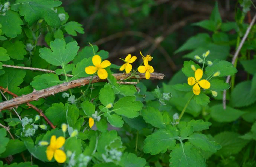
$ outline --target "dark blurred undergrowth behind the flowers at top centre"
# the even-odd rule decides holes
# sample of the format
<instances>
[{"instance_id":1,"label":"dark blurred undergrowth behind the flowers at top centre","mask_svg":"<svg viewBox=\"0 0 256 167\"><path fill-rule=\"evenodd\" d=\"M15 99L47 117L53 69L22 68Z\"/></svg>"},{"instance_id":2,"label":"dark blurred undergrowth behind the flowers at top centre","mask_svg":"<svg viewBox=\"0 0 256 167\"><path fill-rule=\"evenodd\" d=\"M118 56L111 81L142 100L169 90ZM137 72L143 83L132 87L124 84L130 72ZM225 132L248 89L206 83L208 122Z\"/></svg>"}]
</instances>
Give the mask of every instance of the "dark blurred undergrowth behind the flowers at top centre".
<instances>
[{"instance_id":1,"label":"dark blurred undergrowth behind the flowers at top centre","mask_svg":"<svg viewBox=\"0 0 256 167\"><path fill-rule=\"evenodd\" d=\"M198 33L210 33L191 25L209 19L215 0L62 0L69 13L69 21L83 25L84 34L75 39L80 50L88 42L109 52L111 63L121 65L126 55L136 55L142 62L139 51L154 57L150 65L155 72L166 75L165 82L181 69L182 56L174 54L189 37ZM219 0L222 21L234 21L237 0ZM246 21L245 21L246 22ZM232 33L230 31L229 33ZM232 50L231 50L232 51ZM158 82L143 81L150 89ZM160 86L160 85L159 85Z\"/></svg>"}]
</instances>

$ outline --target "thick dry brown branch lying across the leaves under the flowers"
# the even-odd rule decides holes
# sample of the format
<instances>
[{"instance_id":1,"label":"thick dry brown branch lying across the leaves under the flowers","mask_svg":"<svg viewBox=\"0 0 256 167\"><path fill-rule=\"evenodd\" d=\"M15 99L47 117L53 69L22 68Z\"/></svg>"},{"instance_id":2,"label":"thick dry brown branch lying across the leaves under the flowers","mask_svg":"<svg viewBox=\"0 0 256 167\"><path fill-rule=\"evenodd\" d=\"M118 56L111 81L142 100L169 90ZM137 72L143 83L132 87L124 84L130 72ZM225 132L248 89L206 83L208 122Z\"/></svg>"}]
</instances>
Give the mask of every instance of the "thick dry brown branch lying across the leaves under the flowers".
<instances>
[{"instance_id":1,"label":"thick dry brown branch lying across the leaves under the flowers","mask_svg":"<svg viewBox=\"0 0 256 167\"><path fill-rule=\"evenodd\" d=\"M139 78L136 78L135 76L131 77L133 79L145 79L145 74L144 73L140 73L138 74ZM125 74L125 73L116 73L113 74L113 76L117 79L117 80L123 80L126 79L130 76L129 74ZM164 74L162 73L151 73L150 79L163 79L164 78ZM63 84L59 84L56 86L52 86L50 88L46 88L40 91L34 91L30 94L27 95L22 95L20 97L13 98L12 100L8 100L8 101L4 101L2 103L0 103L0 111L4 110L4 109L8 109L23 103L28 103L29 101L34 101L34 100L38 100L39 98L44 98L47 97L49 95L54 95L56 93L59 92L63 92L66 91L68 89L71 88L75 88L78 86L84 86L89 84L91 80L91 77L87 77L87 78L81 78L81 79L76 79L74 81L69 81L69 82L65 82ZM94 76L91 83L96 83L96 82L104 82L107 81L100 79L98 76ZM4 90L4 89L3 89ZM6 91L6 89L4 90ZM15 96L15 95L13 95Z\"/></svg>"}]
</instances>

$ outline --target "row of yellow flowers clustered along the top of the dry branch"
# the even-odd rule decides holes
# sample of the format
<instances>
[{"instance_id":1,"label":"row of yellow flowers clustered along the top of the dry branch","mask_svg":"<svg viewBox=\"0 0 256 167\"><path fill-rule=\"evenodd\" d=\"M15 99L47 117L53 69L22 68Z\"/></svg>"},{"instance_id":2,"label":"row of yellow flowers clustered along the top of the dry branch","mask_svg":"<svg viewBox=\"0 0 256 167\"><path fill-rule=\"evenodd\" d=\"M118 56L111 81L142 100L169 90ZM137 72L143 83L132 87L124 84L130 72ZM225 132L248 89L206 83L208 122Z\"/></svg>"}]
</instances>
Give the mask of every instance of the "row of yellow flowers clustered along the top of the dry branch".
<instances>
[{"instance_id":1,"label":"row of yellow flowers clustered along the top of the dry branch","mask_svg":"<svg viewBox=\"0 0 256 167\"><path fill-rule=\"evenodd\" d=\"M141 52L140 52L140 55L142 55ZM120 59L123 60L122 58ZM132 57L131 54L128 54L125 57L125 60L123 60L125 63L120 67L119 70L120 71L125 70L126 73L130 73L133 68L131 63L133 63L136 59L137 59L136 56ZM154 72L153 67L149 66L148 64L148 62L151 61L152 59L153 57L151 57L151 55L146 55L146 57L142 55L144 66L139 66L137 69L140 73L145 73L146 79L149 79L150 73ZM92 58L92 63L94 66L86 67L85 73L91 75L97 72L97 75L99 76L100 79L106 79L108 77L108 73L107 73L107 70L105 70L105 68L111 65L110 61L104 60L101 62L101 57L99 55L94 55ZM137 70L134 73L136 73Z\"/></svg>"}]
</instances>

